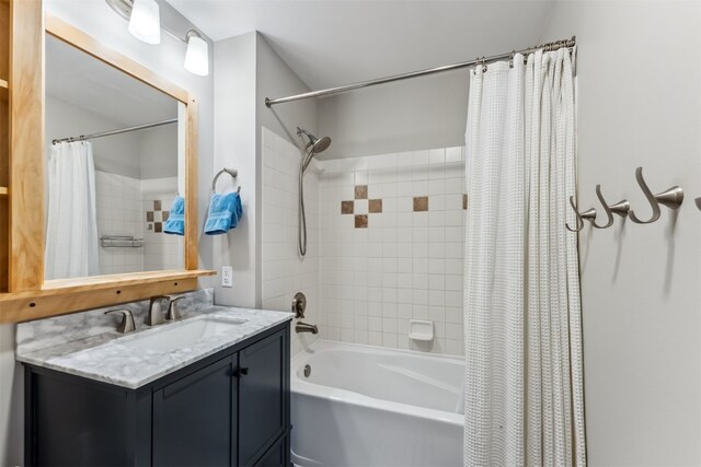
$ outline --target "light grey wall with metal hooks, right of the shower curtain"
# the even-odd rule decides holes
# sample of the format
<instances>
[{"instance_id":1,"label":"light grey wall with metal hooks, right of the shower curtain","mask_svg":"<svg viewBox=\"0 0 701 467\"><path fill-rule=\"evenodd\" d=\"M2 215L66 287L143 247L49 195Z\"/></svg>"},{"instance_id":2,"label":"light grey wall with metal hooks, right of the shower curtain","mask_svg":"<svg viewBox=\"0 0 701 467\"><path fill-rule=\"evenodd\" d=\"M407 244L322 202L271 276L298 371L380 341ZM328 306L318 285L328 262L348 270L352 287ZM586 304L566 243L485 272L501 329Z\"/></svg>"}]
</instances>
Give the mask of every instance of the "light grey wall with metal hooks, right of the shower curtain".
<instances>
[{"instance_id":1,"label":"light grey wall with metal hooks, right of the shower curtain","mask_svg":"<svg viewBox=\"0 0 701 467\"><path fill-rule=\"evenodd\" d=\"M543 40L577 36L578 190L596 206L685 189L678 214L581 235L591 466L701 464L701 3L555 3Z\"/></svg>"}]
</instances>

